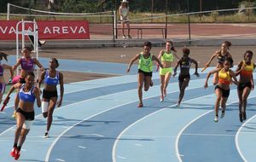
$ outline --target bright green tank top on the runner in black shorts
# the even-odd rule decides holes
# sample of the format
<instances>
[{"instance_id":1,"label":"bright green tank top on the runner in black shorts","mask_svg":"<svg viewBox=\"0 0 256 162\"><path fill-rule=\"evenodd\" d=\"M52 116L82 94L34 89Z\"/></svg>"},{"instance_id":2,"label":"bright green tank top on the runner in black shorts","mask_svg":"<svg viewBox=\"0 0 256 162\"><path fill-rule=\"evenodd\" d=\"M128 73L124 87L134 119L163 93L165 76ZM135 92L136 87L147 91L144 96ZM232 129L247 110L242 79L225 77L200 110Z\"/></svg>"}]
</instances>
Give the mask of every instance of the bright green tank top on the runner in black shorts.
<instances>
[{"instance_id":1,"label":"bright green tank top on the runner in black shorts","mask_svg":"<svg viewBox=\"0 0 256 162\"><path fill-rule=\"evenodd\" d=\"M152 55L150 54L149 57L145 59L143 56L143 52L141 52L138 68L141 69L143 72L152 72L153 71Z\"/></svg>"}]
</instances>

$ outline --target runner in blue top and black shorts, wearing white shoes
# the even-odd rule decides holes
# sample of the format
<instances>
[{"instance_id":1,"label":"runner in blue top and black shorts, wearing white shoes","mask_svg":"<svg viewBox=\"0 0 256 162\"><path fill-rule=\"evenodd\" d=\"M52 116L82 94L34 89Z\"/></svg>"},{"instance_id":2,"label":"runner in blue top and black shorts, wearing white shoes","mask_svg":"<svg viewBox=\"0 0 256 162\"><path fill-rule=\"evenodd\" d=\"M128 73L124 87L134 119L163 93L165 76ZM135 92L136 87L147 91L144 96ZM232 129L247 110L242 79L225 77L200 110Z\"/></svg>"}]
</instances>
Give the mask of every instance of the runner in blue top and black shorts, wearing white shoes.
<instances>
[{"instance_id":1,"label":"runner in blue top and black shorts, wearing white shoes","mask_svg":"<svg viewBox=\"0 0 256 162\"><path fill-rule=\"evenodd\" d=\"M63 74L56 70L59 67L59 61L55 58L49 60L49 70L44 71L38 82L38 88L44 82L43 99L42 99L42 113L44 118L47 118L46 131L44 137L49 137L49 128L52 124L52 115L55 110L55 105L61 107L64 86L63 86ZM60 84L61 96L57 101L57 84Z\"/></svg>"}]
</instances>

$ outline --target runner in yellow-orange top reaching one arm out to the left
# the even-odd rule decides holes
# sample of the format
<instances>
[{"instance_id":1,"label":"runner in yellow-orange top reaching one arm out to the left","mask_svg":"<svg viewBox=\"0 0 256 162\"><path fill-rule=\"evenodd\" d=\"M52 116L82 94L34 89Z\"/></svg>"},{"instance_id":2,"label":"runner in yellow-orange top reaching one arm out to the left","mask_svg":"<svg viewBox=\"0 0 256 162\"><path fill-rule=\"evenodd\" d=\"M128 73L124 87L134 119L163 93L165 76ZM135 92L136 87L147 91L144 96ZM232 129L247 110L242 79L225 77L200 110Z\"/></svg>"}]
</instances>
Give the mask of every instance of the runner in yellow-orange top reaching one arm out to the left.
<instances>
[{"instance_id":1,"label":"runner in yellow-orange top reaching one arm out to the left","mask_svg":"<svg viewBox=\"0 0 256 162\"><path fill-rule=\"evenodd\" d=\"M236 79L236 73L233 72L230 67L233 65L233 60L228 57L224 61L224 67L218 68L216 70L212 70L208 72L206 83L204 85L205 88L208 87L208 79L210 78L211 74L218 72L218 84L215 87L215 94L217 95L217 100L215 102L215 117L214 121L218 122L218 107L221 103L222 112L221 117L224 118L225 109L226 109L226 102L230 95L230 84L233 82L234 84L238 84ZM234 79L234 81L232 80Z\"/></svg>"}]
</instances>

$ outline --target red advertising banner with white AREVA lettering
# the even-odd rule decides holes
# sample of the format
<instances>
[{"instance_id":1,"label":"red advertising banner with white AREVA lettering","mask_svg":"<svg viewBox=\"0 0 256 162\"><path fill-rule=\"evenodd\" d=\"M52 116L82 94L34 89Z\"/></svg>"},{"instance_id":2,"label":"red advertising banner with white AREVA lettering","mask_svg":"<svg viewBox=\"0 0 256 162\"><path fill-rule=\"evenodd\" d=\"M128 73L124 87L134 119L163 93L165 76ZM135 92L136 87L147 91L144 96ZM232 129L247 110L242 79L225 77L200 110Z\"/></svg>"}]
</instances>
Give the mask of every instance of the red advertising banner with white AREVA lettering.
<instances>
[{"instance_id":1,"label":"red advertising banner with white AREVA lettering","mask_svg":"<svg viewBox=\"0 0 256 162\"><path fill-rule=\"evenodd\" d=\"M0 40L15 40L17 23L16 20L0 20ZM40 20L37 24L39 39L90 39L87 20ZM27 24L25 30L32 31L32 24Z\"/></svg>"}]
</instances>

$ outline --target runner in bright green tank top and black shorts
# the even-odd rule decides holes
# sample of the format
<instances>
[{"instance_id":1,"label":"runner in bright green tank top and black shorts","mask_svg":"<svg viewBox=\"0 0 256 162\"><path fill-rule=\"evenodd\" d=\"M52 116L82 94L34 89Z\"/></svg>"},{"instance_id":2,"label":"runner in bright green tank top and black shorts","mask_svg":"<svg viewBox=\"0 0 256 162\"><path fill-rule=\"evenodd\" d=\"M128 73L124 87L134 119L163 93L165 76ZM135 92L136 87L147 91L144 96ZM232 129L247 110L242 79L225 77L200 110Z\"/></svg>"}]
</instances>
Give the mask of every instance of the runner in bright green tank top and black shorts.
<instances>
[{"instance_id":1,"label":"runner in bright green tank top and black shorts","mask_svg":"<svg viewBox=\"0 0 256 162\"><path fill-rule=\"evenodd\" d=\"M152 54L150 54L150 49L152 47L152 44L150 42L145 42L143 45L144 51L135 55L126 70L126 72L130 72L131 65L134 61L139 60L138 65L138 97L139 97L139 104L137 107L143 107L143 84L144 84L144 90L148 91L149 85L153 86L153 82L151 80L152 78L152 72L153 72L153 62L157 61L157 63L162 67L162 64L158 60L158 58Z\"/></svg>"}]
</instances>

